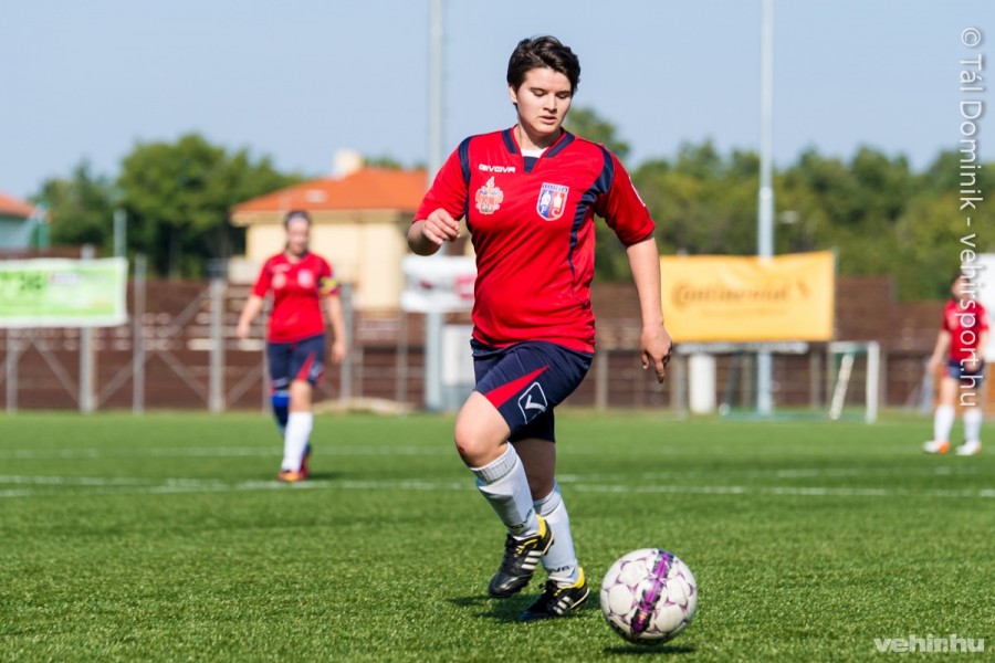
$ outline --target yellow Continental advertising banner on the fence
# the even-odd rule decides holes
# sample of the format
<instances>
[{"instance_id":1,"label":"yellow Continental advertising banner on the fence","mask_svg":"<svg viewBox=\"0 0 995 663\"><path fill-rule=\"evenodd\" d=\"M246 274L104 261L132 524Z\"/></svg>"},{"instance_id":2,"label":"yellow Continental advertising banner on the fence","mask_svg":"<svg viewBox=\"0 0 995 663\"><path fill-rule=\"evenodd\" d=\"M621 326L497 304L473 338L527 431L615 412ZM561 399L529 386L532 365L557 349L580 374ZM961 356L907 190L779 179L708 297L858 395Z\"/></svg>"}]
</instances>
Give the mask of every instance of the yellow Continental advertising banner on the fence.
<instances>
[{"instance_id":1,"label":"yellow Continental advertising banner on the fence","mask_svg":"<svg viewBox=\"0 0 995 663\"><path fill-rule=\"evenodd\" d=\"M829 340L831 252L660 259L663 317L675 343Z\"/></svg>"}]
</instances>

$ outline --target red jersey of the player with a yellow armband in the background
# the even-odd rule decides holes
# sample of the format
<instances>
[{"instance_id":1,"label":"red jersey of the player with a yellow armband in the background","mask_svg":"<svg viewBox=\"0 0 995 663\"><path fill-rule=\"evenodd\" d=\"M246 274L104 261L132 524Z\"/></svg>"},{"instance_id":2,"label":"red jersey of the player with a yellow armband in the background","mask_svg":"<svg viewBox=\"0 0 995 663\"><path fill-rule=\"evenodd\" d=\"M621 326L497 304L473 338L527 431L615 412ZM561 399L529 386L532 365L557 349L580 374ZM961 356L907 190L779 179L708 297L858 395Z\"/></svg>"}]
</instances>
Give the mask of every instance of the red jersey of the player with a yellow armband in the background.
<instances>
[{"instance_id":1,"label":"red jersey of the player with a yellow armband in the background","mask_svg":"<svg viewBox=\"0 0 995 663\"><path fill-rule=\"evenodd\" d=\"M259 273L252 294L265 297L273 293L273 311L266 340L293 343L325 333L321 298L337 294L332 265L314 253L291 262L286 254L270 257Z\"/></svg>"}]
</instances>

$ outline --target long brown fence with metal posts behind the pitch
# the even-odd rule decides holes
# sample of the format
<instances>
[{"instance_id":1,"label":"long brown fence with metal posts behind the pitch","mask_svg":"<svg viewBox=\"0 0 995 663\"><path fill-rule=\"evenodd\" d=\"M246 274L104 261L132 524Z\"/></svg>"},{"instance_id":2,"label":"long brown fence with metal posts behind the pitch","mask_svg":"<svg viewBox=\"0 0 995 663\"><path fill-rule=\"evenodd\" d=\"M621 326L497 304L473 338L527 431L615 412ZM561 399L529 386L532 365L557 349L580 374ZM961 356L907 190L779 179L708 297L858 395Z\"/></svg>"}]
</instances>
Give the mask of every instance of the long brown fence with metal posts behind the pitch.
<instances>
[{"instance_id":1,"label":"long brown fence with metal posts behind the pitch","mask_svg":"<svg viewBox=\"0 0 995 663\"><path fill-rule=\"evenodd\" d=\"M19 409L95 410L199 409L255 410L268 407L264 318L252 338L234 330L249 295L248 285L146 281L140 264L129 284L129 324L98 329L0 330L0 383L8 412ZM425 403L425 319L421 314L354 309L343 291L349 354L328 366L316 401L350 404L377 400L408 408ZM606 307L607 308L607 307ZM610 312L609 312L610 313ZM448 324L465 326L463 314ZM469 355L467 344L458 352ZM684 411L687 358L675 357L670 376L658 385L642 370L639 322L599 315L598 352L587 379L567 406ZM880 402L905 404L921 388L923 356L914 348L882 352ZM754 366L750 355L715 356L716 400L750 408ZM774 356L774 396L778 407L825 408L832 378L826 348ZM855 379L848 398L865 398ZM460 386L469 391L469 386Z\"/></svg>"}]
</instances>

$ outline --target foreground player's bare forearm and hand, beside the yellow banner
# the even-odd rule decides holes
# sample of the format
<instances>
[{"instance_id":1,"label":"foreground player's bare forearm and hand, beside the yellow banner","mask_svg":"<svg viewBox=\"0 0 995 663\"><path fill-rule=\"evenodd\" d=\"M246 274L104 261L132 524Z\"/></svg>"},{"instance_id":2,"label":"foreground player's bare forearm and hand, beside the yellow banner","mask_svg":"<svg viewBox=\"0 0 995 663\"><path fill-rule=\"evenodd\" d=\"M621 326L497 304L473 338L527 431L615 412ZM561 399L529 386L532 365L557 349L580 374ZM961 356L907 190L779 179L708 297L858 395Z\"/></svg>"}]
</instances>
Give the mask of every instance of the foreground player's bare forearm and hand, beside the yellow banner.
<instances>
[{"instance_id":1,"label":"foreground player's bare forearm and hand, beside the yellow banner","mask_svg":"<svg viewBox=\"0 0 995 663\"><path fill-rule=\"evenodd\" d=\"M660 252L657 241L649 238L626 248L632 281L639 294L639 311L642 316L642 332L639 335L639 351L643 370L652 367L657 381L662 382L670 361L673 340L663 324L663 305L660 295Z\"/></svg>"}]
</instances>

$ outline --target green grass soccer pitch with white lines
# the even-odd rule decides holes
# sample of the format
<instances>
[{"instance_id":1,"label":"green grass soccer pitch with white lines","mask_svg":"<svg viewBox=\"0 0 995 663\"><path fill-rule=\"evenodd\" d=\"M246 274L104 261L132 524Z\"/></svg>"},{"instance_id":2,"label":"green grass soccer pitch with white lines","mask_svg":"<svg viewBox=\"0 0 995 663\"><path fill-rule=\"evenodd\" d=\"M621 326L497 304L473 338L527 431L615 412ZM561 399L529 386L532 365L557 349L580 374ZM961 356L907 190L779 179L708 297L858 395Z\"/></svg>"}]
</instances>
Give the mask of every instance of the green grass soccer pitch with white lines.
<instances>
[{"instance_id":1,"label":"green grass soccer pitch with white lines","mask_svg":"<svg viewBox=\"0 0 995 663\"><path fill-rule=\"evenodd\" d=\"M261 414L0 417L0 660L859 661L874 639L952 634L985 639L967 660L995 651L995 445L925 456L930 421L897 415L559 412L593 585L651 546L698 578L691 627L645 648L595 594L516 622L542 572L486 598L504 532L451 430L322 415L313 481L281 485Z\"/></svg>"}]
</instances>

